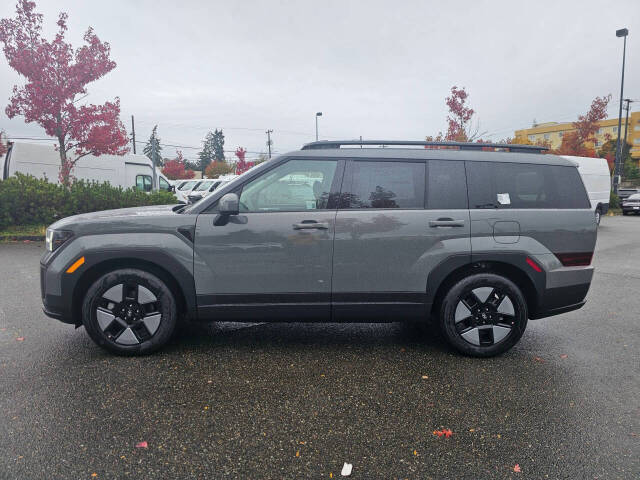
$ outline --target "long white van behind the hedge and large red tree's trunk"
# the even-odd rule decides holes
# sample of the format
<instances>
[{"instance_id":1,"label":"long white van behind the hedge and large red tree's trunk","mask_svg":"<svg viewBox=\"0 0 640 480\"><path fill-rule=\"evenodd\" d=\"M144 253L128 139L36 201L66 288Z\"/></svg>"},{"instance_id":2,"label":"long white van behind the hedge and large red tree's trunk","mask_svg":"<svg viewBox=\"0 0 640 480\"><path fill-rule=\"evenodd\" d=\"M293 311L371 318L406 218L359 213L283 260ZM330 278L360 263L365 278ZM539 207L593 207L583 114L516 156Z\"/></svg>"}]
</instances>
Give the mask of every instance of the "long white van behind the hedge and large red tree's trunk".
<instances>
[{"instance_id":1,"label":"long white van behind the hedge and large red tree's trunk","mask_svg":"<svg viewBox=\"0 0 640 480\"><path fill-rule=\"evenodd\" d=\"M50 143L9 143L9 150L0 159L0 179L4 180L16 173L47 178L51 183L59 183L60 155ZM158 188L173 191L167 178L156 170ZM153 168L145 155L87 155L76 163L73 175L78 180L109 182L122 188L136 187L151 191Z\"/></svg>"}]
</instances>

